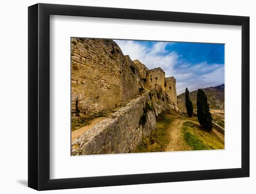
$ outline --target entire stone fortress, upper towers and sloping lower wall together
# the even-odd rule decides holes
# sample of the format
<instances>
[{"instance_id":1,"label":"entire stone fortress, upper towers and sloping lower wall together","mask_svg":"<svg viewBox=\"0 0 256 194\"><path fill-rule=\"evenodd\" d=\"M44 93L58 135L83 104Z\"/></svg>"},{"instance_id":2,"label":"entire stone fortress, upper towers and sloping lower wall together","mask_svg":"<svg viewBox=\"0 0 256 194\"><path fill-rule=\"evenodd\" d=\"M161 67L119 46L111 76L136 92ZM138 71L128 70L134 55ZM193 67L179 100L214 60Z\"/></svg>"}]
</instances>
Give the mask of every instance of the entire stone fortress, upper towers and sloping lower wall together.
<instances>
[{"instance_id":1,"label":"entire stone fortress, upper towers and sloping lower wall together","mask_svg":"<svg viewBox=\"0 0 256 194\"><path fill-rule=\"evenodd\" d=\"M72 121L110 112L72 142L72 154L132 152L156 129L162 110L181 114L175 84L160 67L124 56L113 40L72 38Z\"/></svg>"}]
</instances>

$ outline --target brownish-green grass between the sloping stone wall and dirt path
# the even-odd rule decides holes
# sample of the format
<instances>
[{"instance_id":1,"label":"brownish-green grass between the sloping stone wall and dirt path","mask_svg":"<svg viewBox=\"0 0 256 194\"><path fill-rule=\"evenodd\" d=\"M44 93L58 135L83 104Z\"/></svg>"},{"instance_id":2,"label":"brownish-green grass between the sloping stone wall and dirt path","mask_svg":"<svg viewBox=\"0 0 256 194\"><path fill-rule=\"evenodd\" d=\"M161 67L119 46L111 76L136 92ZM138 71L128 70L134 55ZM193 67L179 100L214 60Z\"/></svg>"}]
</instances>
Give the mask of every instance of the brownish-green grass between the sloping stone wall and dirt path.
<instances>
[{"instance_id":1,"label":"brownish-green grass between the sloping stone wall and dirt path","mask_svg":"<svg viewBox=\"0 0 256 194\"><path fill-rule=\"evenodd\" d=\"M134 153L163 152L168 145L167 129L171 124L168 114L162 112L156 117L156 130L152 130L147 137L143 137Z\"/></svg>"}]
</instances>

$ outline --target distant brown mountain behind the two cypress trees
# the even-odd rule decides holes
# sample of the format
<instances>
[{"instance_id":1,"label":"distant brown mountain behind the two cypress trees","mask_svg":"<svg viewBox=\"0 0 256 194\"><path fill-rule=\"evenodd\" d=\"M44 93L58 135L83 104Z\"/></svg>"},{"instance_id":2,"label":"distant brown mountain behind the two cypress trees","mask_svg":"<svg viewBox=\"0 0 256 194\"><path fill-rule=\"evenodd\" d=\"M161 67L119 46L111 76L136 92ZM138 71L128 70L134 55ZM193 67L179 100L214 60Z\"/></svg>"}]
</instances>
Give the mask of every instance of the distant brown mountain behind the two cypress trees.
<instances>
[{"instance_id":1,"label":"distant brown mountain behind the two cypress trees","mask_svg":"<svg viewBox=\"0 0 256 194\"><path fill-rule=\"evenodd\" d=\"M224 84L216 87L207 87L202 90L205 92L208 98L210 109L224 109ZM196 109L196 94L197 90L189 92L189 97L193 103L194 109ZM186 112L185 93L178 95L178 107L182 110L182 112Z\"/></svg>"}]
</instances>

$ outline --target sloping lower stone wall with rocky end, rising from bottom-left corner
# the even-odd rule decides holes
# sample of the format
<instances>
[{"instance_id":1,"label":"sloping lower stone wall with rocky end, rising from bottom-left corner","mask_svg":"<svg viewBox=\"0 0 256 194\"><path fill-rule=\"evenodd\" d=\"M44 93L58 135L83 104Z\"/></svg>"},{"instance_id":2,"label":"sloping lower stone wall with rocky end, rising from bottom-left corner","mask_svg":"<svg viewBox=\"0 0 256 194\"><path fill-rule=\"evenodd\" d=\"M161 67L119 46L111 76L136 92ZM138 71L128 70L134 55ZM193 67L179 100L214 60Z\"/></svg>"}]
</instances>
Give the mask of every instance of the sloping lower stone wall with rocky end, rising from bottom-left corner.
<instances>
[{"instance_id":1,"label":"sloping lower stone wall with rocky end, rising from bottom-left corner","mask_svg":"<svg viewBox=\"0 0 256 194\"><path fill-rule=\"evenodd\" d=\"M129 153L156 129L156 115L170 111L166 95L150 90L120 107L108 119L102 120L72 142L72 154ZM148 107L148 109L146 108ZM142 115L146 115L143 123Z\"/></svg>"}]
</instances>

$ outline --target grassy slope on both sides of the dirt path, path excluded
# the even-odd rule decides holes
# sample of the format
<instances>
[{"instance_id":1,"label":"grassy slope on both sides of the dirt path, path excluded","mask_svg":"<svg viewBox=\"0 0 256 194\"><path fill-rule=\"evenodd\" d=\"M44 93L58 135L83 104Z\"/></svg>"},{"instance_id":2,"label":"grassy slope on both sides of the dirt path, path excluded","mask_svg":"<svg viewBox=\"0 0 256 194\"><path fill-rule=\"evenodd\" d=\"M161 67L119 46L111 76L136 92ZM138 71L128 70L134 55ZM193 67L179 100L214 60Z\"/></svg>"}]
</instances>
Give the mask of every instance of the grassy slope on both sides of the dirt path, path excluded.
<instances>
[{"instance_id":1,"label":"grassy slope on both sides of the dirt path, path excluded","mask_svg":"<svg viewBox=\"0 0 256 194\"><path fill-rule=\"evenodd\" d=\"M134 153L146 152L163 152L167 147L168 128L174 119L191 120L186 121L182 125L182 139L187 145L184 150L209 150L209 149L224 149L224 141L221 140L214 132L206 132L202 128L193 123L198 122L197 117L182 117L179 115L170 115L162 113L157 117L157 129L151 131L148 137L143 137Z\"/></svg>"}]
</instances>

